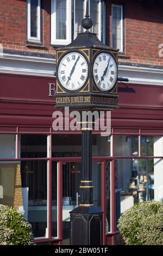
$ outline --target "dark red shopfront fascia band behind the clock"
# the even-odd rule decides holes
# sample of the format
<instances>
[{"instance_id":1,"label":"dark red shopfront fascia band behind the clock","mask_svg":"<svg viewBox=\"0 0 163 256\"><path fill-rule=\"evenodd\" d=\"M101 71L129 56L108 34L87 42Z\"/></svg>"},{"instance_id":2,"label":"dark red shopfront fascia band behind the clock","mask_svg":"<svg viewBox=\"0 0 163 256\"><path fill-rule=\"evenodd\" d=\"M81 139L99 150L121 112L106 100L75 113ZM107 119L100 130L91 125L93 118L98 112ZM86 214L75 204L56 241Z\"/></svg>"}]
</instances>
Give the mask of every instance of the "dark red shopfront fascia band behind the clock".
<instances>
[{"instance_id":1,"label":"dark red shopfront fascia band behind the clock","mask_svg":"<svg viewBox=\"0 0 163 256\"><path fill-rule=\"evenodd\" d=\"M0 131L45 132L52 127L55 79L0 75ZM52 96L49 96L51 95ZM111 112L115 133L154 132L163 128L163 87L118 84L119 109ZM150 131L149 131L150 130Z\"/></svg>"}]
</instances>

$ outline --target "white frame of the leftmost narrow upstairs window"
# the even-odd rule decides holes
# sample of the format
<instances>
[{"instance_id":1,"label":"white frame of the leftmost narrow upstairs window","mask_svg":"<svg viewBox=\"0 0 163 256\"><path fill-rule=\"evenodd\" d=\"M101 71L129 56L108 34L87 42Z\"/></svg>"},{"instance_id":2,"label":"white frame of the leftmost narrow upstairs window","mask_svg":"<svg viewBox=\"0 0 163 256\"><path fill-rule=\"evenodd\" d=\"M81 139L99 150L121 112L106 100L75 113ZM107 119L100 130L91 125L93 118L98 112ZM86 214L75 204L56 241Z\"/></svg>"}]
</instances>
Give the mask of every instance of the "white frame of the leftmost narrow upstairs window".
<instances>
[{"instance_id":1,"label":"white frame of the leftmost narrow upstairs window","mask_svg":"<svg viewBox=\"0 0 163 256\"><path fill-rule=\"evenodd\" d=\"M38 0L38 7L37 7L37 34L38 36L31 36L30 31L30 0L27 0L27 41L30 42L41 42L41 0Z\"/></svg>"}]
</instances>

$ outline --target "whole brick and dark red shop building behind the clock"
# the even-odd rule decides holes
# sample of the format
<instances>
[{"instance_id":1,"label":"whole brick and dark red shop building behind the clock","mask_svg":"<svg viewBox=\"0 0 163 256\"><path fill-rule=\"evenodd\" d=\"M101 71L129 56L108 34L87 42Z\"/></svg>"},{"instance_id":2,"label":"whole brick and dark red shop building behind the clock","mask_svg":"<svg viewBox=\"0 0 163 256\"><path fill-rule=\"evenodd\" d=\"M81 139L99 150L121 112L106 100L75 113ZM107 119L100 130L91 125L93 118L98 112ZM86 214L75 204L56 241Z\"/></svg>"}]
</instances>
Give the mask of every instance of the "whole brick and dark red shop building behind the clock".
<instances>
[{"instance_id":1,"label":"whole brick and dark red shop building behind the clock","mask_svg":"<svg viewBox=\"0 0 163 256\"><path fill-rule=\"evenodd\" d=\"M103 244L122 212L163 199L162 1L89 0L92 32L119 48L120 108L111 134L92 138L93 203ZM32 223L37 243L68 243L78 206L81 133L54 131L55 49L82 32L85 0L0 2L0 203Z\"/></svg>"}]
</instances>

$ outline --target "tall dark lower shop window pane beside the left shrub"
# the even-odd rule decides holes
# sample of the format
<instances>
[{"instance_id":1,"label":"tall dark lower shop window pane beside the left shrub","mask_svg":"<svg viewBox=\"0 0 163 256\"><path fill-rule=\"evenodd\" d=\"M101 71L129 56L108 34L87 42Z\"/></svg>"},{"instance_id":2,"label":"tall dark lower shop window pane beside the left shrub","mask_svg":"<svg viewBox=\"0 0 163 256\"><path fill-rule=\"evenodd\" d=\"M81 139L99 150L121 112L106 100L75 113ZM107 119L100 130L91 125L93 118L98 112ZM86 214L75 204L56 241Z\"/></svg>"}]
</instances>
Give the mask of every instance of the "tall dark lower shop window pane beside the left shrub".
<instances>
[{"instance_id":1,"label":"tall dark lower shop window pane beside the left shrub","mask_svg":"<svg viewBox=\"0 0 163 256\"><path fill-rule=\"evenodd\" d=\"M47 236L47 161L21 162L24 216L35 237Z\"/></svg>"}]
</instances>

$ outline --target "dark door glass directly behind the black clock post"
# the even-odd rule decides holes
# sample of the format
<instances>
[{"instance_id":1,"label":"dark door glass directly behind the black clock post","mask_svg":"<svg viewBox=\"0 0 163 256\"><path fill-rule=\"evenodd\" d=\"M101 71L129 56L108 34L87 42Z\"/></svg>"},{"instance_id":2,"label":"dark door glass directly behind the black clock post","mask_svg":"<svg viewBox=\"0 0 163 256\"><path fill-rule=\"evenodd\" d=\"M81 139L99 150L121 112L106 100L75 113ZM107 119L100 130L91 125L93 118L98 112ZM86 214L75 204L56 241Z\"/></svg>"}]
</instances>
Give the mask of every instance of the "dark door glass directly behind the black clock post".
<instances>
[{"instance_id":1,"label":"dark door glass directly behind the black clock post","mask_svg":"<svg viewBox=\"0 0 163 256\"><path fill-rule=\"evenodd\" d=\"M82 162L62 163L62 228L63 245L70 238L70 211L80 204ZM93 205L101 209L101 162L92 161Z\"/></svg>"}]
</instances>

